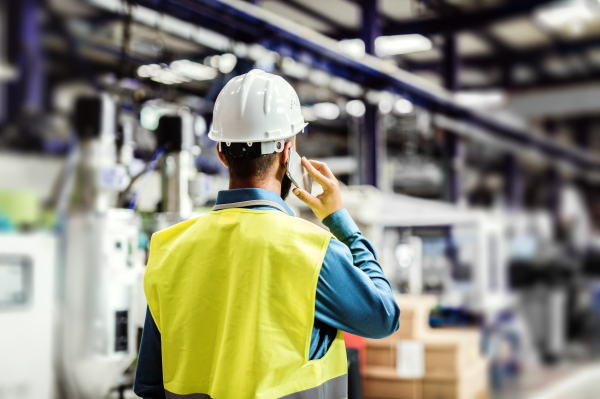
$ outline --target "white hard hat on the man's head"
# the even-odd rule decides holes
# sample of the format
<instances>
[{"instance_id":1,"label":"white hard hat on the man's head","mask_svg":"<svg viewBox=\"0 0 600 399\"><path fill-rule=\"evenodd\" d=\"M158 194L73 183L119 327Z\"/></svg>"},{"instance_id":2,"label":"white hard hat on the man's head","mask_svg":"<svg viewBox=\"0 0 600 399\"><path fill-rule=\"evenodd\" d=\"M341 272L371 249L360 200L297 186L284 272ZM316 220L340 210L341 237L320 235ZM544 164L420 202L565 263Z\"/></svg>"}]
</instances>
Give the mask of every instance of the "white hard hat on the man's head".
<instances>
[{"instance_id":1,"label":"white hard hat on the man's head","mask_svg":"<svg viewBox=\"0 0 600 399\"><path fill-rule=\"evenodd\" d=\"M219 93L208 137L225 143L262 142L265 154L279 152L281 146L275 144L306 125L294 88L281 76L253 69L231 79Z\"/></svg>"}]
</instances>

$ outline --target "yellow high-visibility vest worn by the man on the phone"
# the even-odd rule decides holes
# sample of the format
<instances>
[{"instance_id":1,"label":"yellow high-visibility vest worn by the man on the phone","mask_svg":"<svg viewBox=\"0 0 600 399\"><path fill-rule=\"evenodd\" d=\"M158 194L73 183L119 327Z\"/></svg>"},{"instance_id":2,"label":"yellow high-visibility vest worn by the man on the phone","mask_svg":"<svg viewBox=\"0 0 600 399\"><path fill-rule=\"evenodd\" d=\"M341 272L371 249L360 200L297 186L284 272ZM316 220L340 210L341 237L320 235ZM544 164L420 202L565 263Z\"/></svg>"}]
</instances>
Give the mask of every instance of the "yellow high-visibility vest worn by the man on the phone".
<instances>
[{"instance_id":1,"label":"yellow high-visibility vest worn by the man on the phone","mask_svg":"<svg viewBox=\"0 0 600 399\"><path fill-rule=\"evenodd\" d=\"M342 332L309 360L331 238L282 212L243 208L155 233L144 289L167 398L346 398Z\"/></svg>"}]
</instances>

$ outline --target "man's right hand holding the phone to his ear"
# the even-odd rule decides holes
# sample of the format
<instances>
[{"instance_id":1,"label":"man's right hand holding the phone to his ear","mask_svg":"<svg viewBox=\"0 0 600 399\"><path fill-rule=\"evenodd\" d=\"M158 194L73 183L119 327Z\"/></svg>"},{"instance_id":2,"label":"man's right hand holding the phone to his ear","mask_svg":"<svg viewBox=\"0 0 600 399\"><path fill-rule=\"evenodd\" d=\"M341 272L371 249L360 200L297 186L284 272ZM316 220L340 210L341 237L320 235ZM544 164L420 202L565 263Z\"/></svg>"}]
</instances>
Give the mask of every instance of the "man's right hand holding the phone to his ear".
<instances>
[{"instance_id":1,"label":"man's right hand holding the phone to his ear","mask_svg":"<svg viewBox=\"0 0 600 399\"><path fill-rule=\"evenodd\" d=\"M313 178L314 181L323 187L323 192L312 196L305 190L294 188L296 194L321 220L344 207L342 204L342 194L340 193L340 184L329 170L329 167L323 162L309 161L302 157L302 165Z\"/></svg>"}]
</instances>

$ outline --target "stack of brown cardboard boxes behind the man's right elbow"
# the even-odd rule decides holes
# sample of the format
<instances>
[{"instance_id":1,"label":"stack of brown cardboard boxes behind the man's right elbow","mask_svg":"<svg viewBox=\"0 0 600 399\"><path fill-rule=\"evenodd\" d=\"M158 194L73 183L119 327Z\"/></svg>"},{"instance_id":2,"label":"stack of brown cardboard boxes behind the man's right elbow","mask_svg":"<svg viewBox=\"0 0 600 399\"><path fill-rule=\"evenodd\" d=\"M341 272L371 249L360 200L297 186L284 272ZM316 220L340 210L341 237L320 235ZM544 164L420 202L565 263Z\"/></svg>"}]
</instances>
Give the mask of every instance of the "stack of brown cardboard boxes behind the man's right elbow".
<instances>
[{"instance_id":1,"label":"stack of brown cardboard boxes behind the man's right elbow","mask_svg":"<svg viewBox=\"0 0 600 399\"><path fill-rule=\"evenodd\" d=\"M480 355L476 330L432 329L431 296L398 296L402 311L400 328L392 336L367 340L367 372L364 394L368 399L485 399L487 361ZM424 345L425 375L406 379L396 373L398 341L416 340Z\"/></svg>"}]
</instances>

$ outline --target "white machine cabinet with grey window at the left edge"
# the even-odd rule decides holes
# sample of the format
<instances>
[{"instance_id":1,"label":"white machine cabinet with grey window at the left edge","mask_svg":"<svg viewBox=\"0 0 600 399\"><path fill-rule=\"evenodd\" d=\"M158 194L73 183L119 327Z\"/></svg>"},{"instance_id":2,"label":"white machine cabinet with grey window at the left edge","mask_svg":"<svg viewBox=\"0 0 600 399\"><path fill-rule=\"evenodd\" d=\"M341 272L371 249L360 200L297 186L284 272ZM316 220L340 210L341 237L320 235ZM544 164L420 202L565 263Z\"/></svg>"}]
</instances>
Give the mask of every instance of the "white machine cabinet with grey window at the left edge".
<instances>
[{"instance_id":1,"label":"white machine cabinet with grey window at the left edge","mask_svg":"<svg viewBox=\"0 0 600 399\"><path fill-rule=\"evenodd\" d=\"M56 239L0 235L0 398L50 399Z\"/></svg>"}]
</instances>

